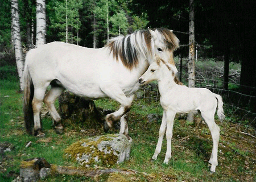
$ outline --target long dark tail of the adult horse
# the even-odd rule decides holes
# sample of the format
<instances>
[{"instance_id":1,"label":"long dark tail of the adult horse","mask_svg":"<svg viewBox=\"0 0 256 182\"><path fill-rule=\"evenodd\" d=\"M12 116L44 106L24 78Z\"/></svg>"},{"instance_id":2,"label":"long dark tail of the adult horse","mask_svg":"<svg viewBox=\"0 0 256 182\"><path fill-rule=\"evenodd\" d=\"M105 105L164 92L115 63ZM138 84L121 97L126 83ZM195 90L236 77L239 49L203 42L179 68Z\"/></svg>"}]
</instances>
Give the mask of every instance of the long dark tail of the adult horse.
<instances>
[{"instance_id":1,"label":"long dark tail of the adult horse","mask_svg":"<svg viewBox=\"0 0 256 182\"><path fill-rule=\"evenodd\" d=\"M32 109L32 100L34 97L34 85L31 80L30 71L28 65L25 62L25 68L23 72L24 78L24 98L23 98L23 112L24 112L24 124L27 133L32 135L34 128L34 113Z\"/></svg>"}]
</instances>

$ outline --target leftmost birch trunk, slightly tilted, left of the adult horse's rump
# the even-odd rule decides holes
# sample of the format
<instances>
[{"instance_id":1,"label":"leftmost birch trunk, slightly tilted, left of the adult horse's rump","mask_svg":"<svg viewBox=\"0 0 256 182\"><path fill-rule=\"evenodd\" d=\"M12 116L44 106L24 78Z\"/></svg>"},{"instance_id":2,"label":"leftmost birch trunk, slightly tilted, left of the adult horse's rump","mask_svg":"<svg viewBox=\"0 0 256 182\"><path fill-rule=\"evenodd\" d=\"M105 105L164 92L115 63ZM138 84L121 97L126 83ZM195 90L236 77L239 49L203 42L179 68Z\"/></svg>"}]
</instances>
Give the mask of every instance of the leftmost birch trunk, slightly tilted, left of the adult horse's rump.
<instances>
[{"instance_id":1,"label":"leftmost birch trunk, slightly tilted, left of the adult horse's rump","mask_svg":"<svg viewBox=\"0 0 256 182\"><path fill-rule=\"evenodd\" d=\"M19 26L19 8L18 8L18 0L11 0L11 20L12 20L12 31L13 31L13 42L14 42L14 50L15 50L15 58L16 65L18 69L19 75L19 86L20 90L23 90L23 70L24 70L24 62L23 62L23 54L22 54L22 44L20 38L20 26Z\"/></svg>"}]
</instances>

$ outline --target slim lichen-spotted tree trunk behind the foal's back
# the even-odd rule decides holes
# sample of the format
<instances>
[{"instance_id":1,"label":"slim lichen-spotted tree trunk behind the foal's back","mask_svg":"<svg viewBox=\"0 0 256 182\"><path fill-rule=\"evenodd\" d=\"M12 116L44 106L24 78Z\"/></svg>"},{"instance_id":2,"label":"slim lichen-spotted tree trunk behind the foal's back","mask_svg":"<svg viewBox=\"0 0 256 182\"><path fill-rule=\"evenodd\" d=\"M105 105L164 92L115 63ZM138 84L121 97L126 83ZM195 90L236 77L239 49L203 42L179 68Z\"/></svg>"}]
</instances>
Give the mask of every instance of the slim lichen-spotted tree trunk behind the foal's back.
<instances>
[{"instance_id":1,"label":"slim lichen-spotted tree trunk behind the foal's back","mask_svg":"<svg viewBox=\"0 0 256 182\"><path fill-rule=\"evenodd\" d=\"M188 87L195 87L195 7L189 0L189 52L188 52ZM187 122L193 122L194 113L188 113Z\"/></svg>"}]
</instances>

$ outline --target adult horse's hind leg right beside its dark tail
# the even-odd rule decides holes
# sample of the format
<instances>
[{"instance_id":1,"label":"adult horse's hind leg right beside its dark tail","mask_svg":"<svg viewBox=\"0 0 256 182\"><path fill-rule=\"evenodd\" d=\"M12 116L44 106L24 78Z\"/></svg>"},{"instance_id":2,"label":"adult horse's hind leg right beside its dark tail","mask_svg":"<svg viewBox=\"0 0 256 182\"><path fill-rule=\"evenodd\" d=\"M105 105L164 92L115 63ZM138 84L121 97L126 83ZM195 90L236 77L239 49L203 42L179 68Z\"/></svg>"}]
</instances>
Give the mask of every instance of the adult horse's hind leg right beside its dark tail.
<instances>
[{"instance_id":1,"label":"adult horse's hind leg right beside its dark tail","mask_svg":"<svg viewBox=\"0 0 256 182\"><path fill-rule=\"evenodd\" d=\"M34 97L32 100L32 109L34 113L34 131L33 134L37 137L44 137L40 122L40 110L43 104L44 93L46 88L35 88Z\"/></svg>"}]
</instances>

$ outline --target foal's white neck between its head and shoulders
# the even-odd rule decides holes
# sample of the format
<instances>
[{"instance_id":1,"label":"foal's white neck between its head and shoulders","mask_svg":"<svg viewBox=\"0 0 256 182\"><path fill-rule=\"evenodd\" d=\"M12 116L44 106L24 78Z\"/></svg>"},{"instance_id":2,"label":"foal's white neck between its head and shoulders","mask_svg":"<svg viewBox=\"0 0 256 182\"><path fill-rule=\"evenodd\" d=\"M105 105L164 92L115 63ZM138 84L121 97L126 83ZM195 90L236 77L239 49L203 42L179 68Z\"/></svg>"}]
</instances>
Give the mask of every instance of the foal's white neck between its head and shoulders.
<instances>
[{"instance_id":1,"label":"foal's white neck between its head and shoulders","mask_svg":"<svg viewBox=\"0 0 256 182\"><path fill-rule=\"evenodd\" d=\"M172 76L164 77L158 81L158 89L161 96L170 92L170 90L174 89L175 86L177 86L177 84Z\"/></svg>"}]
</instances>

